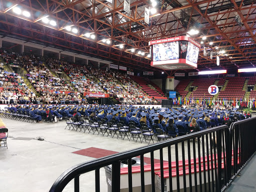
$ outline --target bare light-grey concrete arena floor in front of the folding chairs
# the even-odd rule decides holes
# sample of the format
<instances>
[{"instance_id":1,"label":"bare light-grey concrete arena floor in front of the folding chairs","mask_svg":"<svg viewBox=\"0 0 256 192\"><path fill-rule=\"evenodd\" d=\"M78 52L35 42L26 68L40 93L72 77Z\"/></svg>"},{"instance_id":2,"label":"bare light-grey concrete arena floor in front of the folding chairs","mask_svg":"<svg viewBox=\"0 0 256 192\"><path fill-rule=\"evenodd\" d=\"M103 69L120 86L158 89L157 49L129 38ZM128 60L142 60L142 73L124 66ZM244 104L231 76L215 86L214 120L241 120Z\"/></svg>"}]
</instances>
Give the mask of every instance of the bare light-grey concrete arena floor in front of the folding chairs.
<instances>
[{"instance_id":1,"label":"bare light-grey concrete arena floor in front of the folding chairs","mask_svg":"<svg viewBox=\"0 0 256 192\"><path fill-rule=\"evenodd\" d=\"M121 152L147 145L145 142L140 143L127 139L117 140L116 138L64 129L65 121L26 123L6 118L2 118L2 120L9 132L8 149L0 147L0 187L5 192L27 190L46 192L56 178L67 168L94 159L71 153L73 151L97 147ZM37 136L44 136L45 140L34 139ZM181 151L181 144L178 147ZM186 148L185 143L185 150ZM167 160L166 148L163 149L163 155L163 160ZM171 146L172 161L175 160L174 155L175 148ZM144 156L150 157L149 154ZM178 156L181 160L181 152ZM154 158L159 159L158 151L154 152ZM187 159L187 153L185 153L185 159ZM94 188L94 172L80 176L81 191L85 191L85 189L87 189L86 191L94 191ZM107 191L103 168L100 169L100 190ZM64 191L73 191L73 181L65 187Z\"/></svg>"}]
</instances>

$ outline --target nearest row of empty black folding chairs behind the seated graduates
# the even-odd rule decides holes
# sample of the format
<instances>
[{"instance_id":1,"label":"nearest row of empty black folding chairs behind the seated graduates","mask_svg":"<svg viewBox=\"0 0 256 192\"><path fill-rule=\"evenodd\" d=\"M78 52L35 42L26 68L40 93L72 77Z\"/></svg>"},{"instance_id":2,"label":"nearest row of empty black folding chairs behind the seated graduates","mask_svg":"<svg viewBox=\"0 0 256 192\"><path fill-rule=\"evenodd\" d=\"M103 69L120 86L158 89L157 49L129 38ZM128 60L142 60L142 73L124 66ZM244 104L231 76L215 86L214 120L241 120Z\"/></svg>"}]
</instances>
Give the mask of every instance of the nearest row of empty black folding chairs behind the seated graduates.
<instances>
[{"instance_id":1,"label":"nearest row of empty black folding chairs behind the seated graduates","mask_svg":"<svg viewBox=\"0 0 256 192\"><path fill-rule=\"evenodd\" d=\"M116 138L127 138L128 140L134 140L137 142L138 140L142 143L143 141L147 142L148 144L152 140L160 141L166 140L176 135L168 135L164 132L161 128L157 125L153 125L153 132L152 129L148 128L145 123L141 122L140 128L135 126L133 121L129 122L129 125L126 126L123 121L116 122L115 120L108 121L107 119L100 119L100 118L89 118L84 117L84 119L80 118L78 121L74 120L74 118L65 118L66 120L66 128L69 130L79 130L79 132L88 131L88 133L97 134L97 135L106 135L111 136L112 138L116 136Z\"/></svg>"}]
</instances>

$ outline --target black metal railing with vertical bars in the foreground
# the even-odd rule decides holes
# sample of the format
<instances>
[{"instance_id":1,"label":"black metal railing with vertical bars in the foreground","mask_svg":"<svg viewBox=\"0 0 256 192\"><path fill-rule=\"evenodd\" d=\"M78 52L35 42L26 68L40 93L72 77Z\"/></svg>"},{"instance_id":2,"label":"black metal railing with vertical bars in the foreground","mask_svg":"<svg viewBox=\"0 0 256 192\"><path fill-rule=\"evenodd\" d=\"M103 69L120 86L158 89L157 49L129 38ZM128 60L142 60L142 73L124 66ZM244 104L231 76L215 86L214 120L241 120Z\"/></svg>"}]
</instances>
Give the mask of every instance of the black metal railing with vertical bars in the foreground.
<instances>
[{"instance_id":1,"label":"black metal railing with vertical bars in the foreground","mask_svg":"<svg viewBox=\"0 0 256 192\"><path fill-rule=\"evenodd\" d=\"M253 117L232 123L230 131L228 126L221 125L77 164L63 172L49 191L62 191L74 179L74 191L78 192L79 176L89 171L94 171L95 191L100 191L100 168L107 165L111 165L111 191L120 191L120 166L123 160L128 162L128 191L132 191L131 158L136 156L140 157L141 165L144 158L150 158L150 164L136 167L140 169L141 191L145 191L145 180L147 183L150 181L151 191L158 186L158 191L222 191L256 150L255 122L256 117ZM158 166L154 157L159 158ZM144 168L147 170L144 171Z\"/></svg>"}]
</instances>

